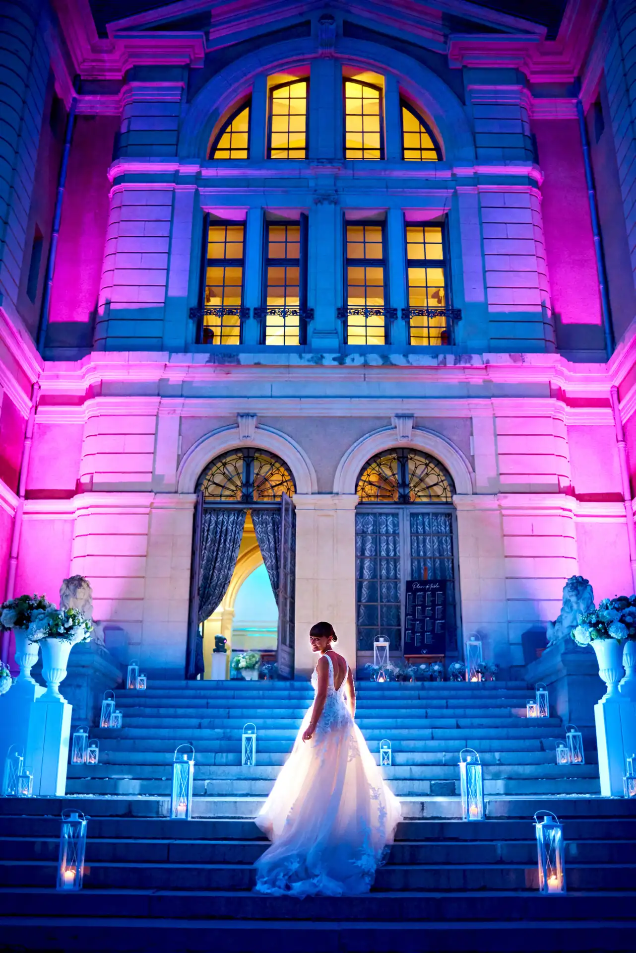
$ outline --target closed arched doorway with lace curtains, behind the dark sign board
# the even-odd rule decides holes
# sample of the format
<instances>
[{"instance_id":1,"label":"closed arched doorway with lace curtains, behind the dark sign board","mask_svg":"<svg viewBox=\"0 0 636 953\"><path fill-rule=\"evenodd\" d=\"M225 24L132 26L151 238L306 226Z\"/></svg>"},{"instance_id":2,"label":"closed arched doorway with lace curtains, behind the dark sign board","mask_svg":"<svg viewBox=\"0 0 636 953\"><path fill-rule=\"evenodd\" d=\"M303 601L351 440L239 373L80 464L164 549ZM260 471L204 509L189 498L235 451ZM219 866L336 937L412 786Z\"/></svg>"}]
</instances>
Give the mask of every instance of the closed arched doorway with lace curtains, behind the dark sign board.
<instances>
[{"instance_id":1,"label":"closed arched doorway with lace curtains, behind the dark sign board","mask_svg":"<svg viewBox=\"0 0 636 953\"><path fill-rule=\"evenodd\" d=\"M454 492L446 467L419 450L382 451L362 468L355 516L359 659L370 656L377 636L389 639L394 655L457 654Z\"/></svg>"}]
</instances>

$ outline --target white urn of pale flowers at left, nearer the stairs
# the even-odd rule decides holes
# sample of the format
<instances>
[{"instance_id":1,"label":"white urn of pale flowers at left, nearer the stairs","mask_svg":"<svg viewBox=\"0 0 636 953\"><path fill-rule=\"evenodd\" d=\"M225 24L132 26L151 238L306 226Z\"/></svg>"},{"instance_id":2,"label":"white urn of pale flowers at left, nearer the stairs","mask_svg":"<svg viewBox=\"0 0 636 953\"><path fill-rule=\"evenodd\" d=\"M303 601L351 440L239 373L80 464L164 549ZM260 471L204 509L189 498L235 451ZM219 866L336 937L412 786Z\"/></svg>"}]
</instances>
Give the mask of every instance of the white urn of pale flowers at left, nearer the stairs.
<instances>
[{"instance_id":1,"label":"white urn of pale flowers at left, nearer the stairs","mask_svg":"<svg viewBox=\"0 0 636 953\"><path fill-rule=\"evenodd\" d=\"M51 606L33 614L29 639L42 647L42 677L47 682L42 701L63 701L59 685L67 676L70 650L78 642L89 641L92 628L92 621L79 609Z\"/></svg>"}]
</instances>

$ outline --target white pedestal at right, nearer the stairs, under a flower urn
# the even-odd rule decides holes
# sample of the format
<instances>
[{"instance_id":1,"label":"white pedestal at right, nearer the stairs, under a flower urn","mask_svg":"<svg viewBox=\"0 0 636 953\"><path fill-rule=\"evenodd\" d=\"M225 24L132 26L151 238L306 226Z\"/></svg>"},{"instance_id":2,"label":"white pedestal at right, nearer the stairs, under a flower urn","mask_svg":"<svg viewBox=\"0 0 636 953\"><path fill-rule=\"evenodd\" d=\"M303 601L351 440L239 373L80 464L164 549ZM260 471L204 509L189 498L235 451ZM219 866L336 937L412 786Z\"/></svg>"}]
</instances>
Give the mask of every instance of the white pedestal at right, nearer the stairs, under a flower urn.
<instances>
[{"instance_id":1,"label":"white pedestal at right, nearer the stairs, under a flower urn","mask_svg":"<svg viewBox=\"0 0 636 953\"><path fill-rule=\"evenodd\" d=\"M623 797L625 759L636 753L636 702L608 699L594 705L601 794Z\"/></svg>"}]
</instances>

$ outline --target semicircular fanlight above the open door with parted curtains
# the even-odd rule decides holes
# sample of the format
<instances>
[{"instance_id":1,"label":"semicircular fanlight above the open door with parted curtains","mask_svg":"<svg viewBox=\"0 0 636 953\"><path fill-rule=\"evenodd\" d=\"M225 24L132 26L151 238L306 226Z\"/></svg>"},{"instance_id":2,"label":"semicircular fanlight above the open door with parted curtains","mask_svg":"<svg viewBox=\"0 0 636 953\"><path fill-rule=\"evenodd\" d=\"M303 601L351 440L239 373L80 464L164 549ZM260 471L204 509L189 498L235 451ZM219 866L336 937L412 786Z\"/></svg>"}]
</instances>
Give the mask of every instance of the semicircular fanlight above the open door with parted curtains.
<instances>
[{"instance_id":1,"label":"semicircular fanlight above the open door with parted curtains","mask_svg":"<svg viewBox=\"0 0 636 953\"><path fill-rule=\"evenodd\" d=\"M267 450L240 447L212 460L197 488L206 503L277 503L296 492L288 466Z\"/></svg>"}]
</instances>

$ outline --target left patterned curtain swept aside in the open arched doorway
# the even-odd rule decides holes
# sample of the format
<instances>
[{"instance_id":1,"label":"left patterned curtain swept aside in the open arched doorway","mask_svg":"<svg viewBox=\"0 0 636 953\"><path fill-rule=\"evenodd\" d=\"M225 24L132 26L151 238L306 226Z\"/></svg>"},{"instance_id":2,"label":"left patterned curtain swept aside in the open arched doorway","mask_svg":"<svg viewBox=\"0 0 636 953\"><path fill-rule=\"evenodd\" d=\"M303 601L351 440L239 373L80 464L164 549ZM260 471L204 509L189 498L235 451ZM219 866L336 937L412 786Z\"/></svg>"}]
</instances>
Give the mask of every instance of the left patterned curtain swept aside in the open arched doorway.
<instances>
[{"instance_id":1,"label":"left patterned curtain swept aside in the open arched doorway","mask_svg":"<svg viewBox=\"0 0 636 953\"><path fill-rule=\"evenodd\" d=\"M206 510L201 528L199 622L221 604L238 557L246 510Z\"/></svg>"}]
</instances>

